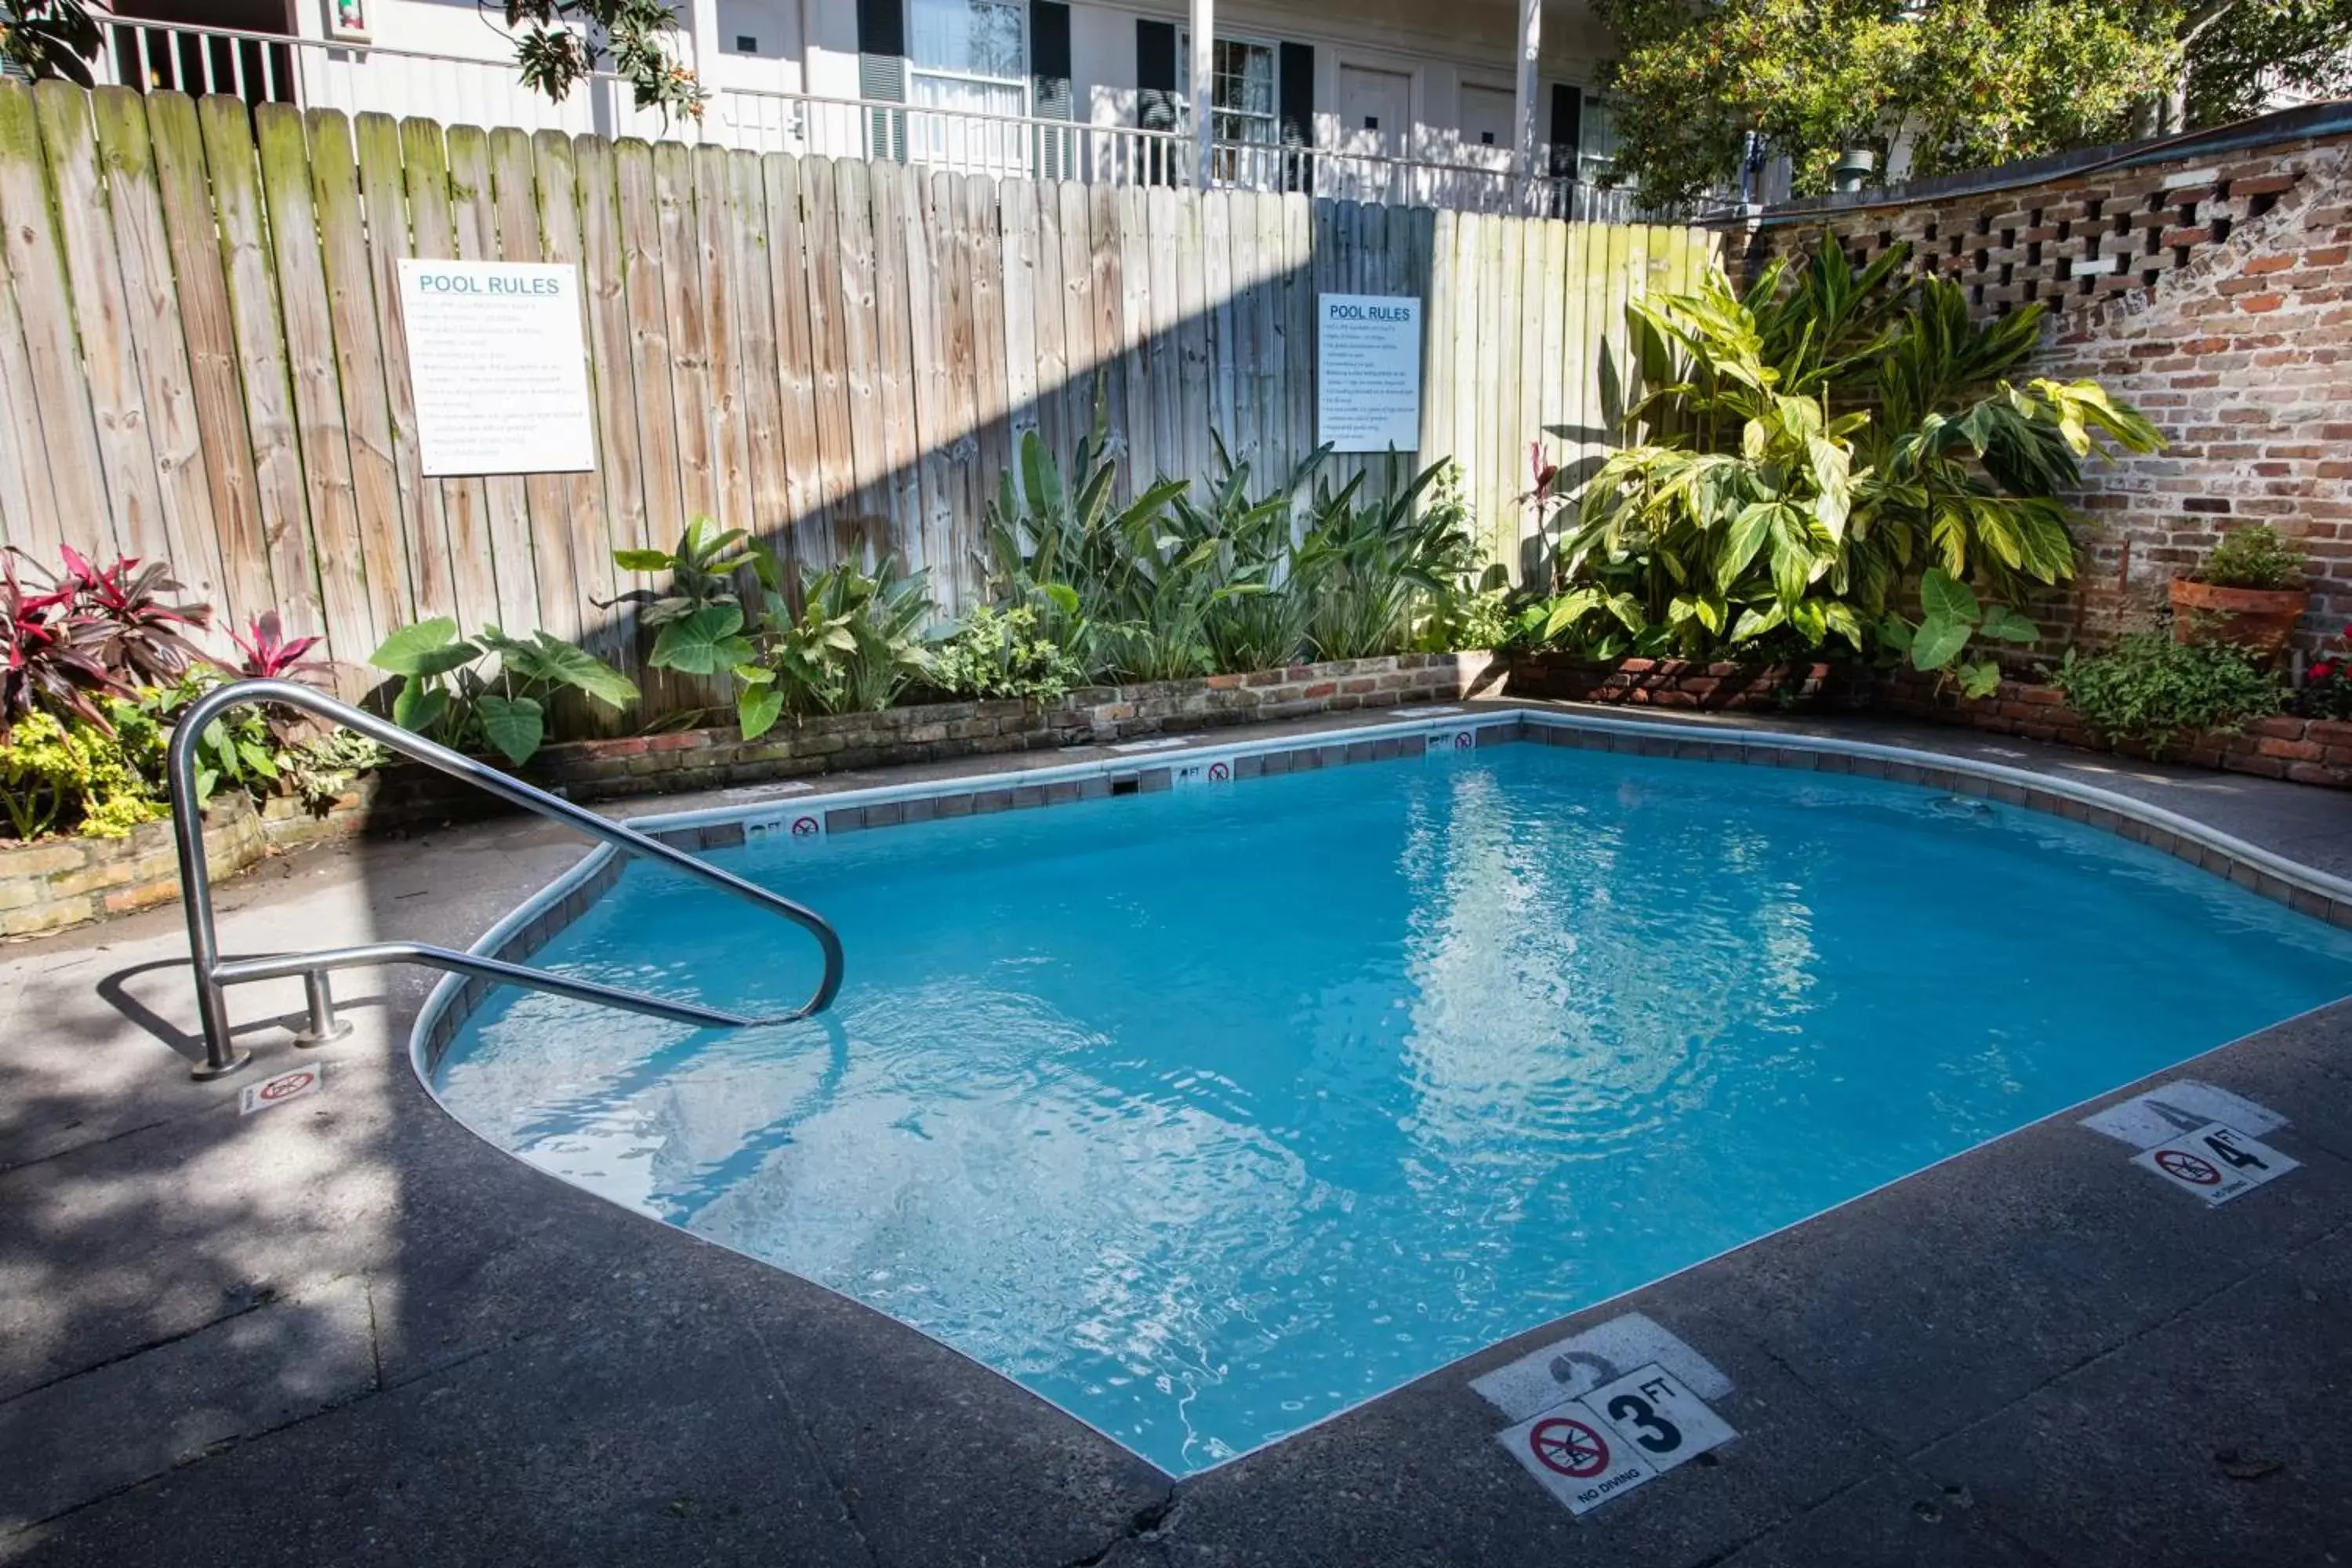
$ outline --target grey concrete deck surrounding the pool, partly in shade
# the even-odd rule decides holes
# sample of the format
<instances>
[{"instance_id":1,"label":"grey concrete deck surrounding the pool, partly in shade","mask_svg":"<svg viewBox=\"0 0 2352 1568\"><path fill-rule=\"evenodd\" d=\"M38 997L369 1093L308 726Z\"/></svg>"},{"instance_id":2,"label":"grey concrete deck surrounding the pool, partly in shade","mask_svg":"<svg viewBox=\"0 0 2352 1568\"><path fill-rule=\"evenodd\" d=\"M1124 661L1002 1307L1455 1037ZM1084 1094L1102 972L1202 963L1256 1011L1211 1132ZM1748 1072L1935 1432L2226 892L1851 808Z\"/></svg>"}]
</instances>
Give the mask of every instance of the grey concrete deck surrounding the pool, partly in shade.
<instances>
[{"instance_id":1,"label":"grey concrete deck surrounding the pool, partly in shade","mask_svg":"<svg viewBox=\"0 0 2352 1568\"><path fill-rule=\"evenodd\" d=\"M2324 790L1755 726L2100 783L2352 875ZM713 802L640 809L682 804ZM466 945L581 853L532 820L313 851L221 889L223 947ZM426 990L348 978L358 1030L303 1053L296 987L240 990L256 1065L193 1084L176 910L0 950L0 1561L2352 1561L2352 1001L2150 1079L2288 1117L2300 1168L2232 1204L2056 1117L1171 1483L480 1143L409 1072ZM322 1093L238 1114L310 1063ZM1628 1312L1722 1368L1738 1439L1571 1521L1470 1378Z\"/></svg>"}]
</instances>

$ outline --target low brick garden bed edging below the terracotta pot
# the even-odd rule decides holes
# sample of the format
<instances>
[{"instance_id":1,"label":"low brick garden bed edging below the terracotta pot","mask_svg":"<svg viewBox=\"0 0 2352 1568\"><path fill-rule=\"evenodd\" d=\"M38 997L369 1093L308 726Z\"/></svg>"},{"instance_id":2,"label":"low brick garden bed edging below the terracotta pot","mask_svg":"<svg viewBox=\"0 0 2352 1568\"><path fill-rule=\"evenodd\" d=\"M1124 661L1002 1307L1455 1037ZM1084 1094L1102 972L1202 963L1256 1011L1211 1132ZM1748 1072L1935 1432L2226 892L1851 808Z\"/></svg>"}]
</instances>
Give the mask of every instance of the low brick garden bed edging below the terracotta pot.
<instances>
[{"instance_id":1,"label":"low brick garden bed edging below the terracotta pot","mask_svg":"<svg viewBox=\"0 0 2352 1568\"><path fill-rule=\"evenodd\" d=\"M1879 689L1879 710L2119 757L2150 755L2147 745L2136 741L2103 741L2065 705L2065 696L2056 686L2034 682L2004 679L1992 696L1962 698L1952 691L1938 691L1933 677L1898 670ZM2161 759L2225 773L2253 773L2256 778L2286 778L2324 790L2352 790L2352 724L2284 715L2253 719L2241 731L2176 736L2164 748Z\"/></svg>"}]
</instances>

